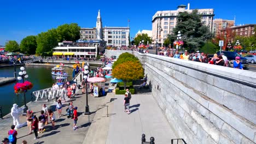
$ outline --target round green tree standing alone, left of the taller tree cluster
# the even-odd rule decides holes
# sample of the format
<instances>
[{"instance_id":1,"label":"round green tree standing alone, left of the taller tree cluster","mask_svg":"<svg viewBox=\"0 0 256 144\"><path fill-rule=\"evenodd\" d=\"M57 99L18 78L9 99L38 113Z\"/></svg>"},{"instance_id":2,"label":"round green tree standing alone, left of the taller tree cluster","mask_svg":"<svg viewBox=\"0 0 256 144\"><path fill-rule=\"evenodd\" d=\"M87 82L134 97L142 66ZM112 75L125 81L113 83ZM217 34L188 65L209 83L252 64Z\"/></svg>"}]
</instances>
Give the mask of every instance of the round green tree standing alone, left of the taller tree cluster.
<instances>
[{"instance_id":1,"label":"round green tree standing alone, left of the taller tree cluster","mask_svg":"<svg viewBox=\"0 0 256 144\"><path fill-rule=\"evenodd\" d=\"M37 49L37 37L35 35L27 36L20 42L20 50L30 55L35 54Z\"/></svg>"}]
</instances>

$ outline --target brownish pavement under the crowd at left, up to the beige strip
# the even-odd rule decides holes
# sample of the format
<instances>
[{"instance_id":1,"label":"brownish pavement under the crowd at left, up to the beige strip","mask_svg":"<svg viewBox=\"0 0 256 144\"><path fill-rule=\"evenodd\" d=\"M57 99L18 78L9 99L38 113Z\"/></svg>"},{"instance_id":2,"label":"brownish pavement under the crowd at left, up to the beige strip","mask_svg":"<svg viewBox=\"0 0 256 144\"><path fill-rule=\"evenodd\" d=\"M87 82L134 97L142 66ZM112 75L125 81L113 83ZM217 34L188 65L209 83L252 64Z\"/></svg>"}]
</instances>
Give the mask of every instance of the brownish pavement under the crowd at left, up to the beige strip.
<instances>
[{"instance_id":1,"label":"brownish pavement under the crowd at left, up to the beige strip","mask_svg":"<svg viewBox=\"0 0 256 144\"><path fill-rule=\"evenodd\" d=\"M79 79L79 75L78 75ZM80 84L80 79L78 80L78 84ZM51 124L45 126L46 131L43 134L38 134L39 139L34 140L34 134L28 135L27 127L22 127L18 129L18 142L21 143L22 140L26 140L28 143L83 143L84 137L89 129L90 123L88 116L84 115L85 111L85 94L82 93L82 89L77 89L78 95L75 98L71 99L73 101L73 105L78 107L78 122L77 122L77 130L73 130L73 119L67 118L67 116L61 116L55 111L56 103L54 101L46 102L45 100L40 100L36 102L28 103L28 109L36 112L34 115L39 116L40 110L42 110L42 105L46 104L52 110L54 110L56 116L56 128L53 129ZM97 107L100 104L99 102L105 97L94 98L91 95L88 95L89 98L89 106L90 111L92 112L90 115L90 122L94 118ZM69 101L71 101L69 100ZM68 106L69 101L63 104L62 115L66 115L66 108ZM26 117L20 117L21 122L26 122ZM9 115L5 116L4 119L0 119L0 138L8 137L8 130L10 126L13 124L13 118Z\"/></svg>"}]
</instances>

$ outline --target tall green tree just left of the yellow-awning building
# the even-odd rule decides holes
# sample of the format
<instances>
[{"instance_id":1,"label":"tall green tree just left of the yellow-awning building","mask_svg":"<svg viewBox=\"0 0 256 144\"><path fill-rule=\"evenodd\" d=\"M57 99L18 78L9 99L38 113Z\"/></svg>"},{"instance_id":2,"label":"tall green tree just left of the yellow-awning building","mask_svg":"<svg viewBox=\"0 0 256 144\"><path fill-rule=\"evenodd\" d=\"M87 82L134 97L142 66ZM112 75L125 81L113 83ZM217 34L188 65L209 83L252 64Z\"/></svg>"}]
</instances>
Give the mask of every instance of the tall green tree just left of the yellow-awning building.
<instances>
[{"instance_id":1,"label":"tall green tree just left of the yellow-awning building","mask_svg":"<svg viewBox=\"0 0 256 144\"><path fill-rule=\"evenodd\" d=\"M42 55L45 52L53 51L53 48L58 45L56 29L50 29L47 32L38 34L36 53Z\"/></svg>"}]
</instances>

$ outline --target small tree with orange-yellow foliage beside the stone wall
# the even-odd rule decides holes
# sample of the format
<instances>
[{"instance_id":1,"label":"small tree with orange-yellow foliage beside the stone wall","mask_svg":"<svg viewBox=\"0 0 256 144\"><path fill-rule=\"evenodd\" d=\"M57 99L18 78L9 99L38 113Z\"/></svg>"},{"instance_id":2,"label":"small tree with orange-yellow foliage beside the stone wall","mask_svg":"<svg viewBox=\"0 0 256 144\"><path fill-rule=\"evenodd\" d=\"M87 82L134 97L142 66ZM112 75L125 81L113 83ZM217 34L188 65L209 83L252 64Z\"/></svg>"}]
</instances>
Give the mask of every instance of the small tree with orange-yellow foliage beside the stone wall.
<instances>
[{"instance_id":1,"label":"small tree with orange-yellow foliage beside the stone wall","mask_svg":"<svg viewBox=\"0 0 256 144\"><path fill-rule=\"evenodd\" d=\"M112 75L117 77L117 79L124 81L124 89L126 89L126 82L142 79L144 75L144 70L141 63L127 61L118 64L117 67L113 68Z\"/></svg>"}]
</instances>

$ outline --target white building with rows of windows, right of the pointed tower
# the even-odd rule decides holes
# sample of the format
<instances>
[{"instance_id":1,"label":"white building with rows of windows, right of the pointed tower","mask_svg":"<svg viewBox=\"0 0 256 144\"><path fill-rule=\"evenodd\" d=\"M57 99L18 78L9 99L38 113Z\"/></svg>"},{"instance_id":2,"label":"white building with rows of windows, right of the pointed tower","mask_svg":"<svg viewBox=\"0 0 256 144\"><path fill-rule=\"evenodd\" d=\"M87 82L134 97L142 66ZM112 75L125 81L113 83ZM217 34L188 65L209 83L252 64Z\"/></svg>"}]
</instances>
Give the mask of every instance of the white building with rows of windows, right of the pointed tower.
<instances>
[{"instance_id":1,"label":"white building with rows of windows, right of the pointed tower","mask_svg":"<svg viewBox=\"0 0 256 144\"><path fill-rule=\"evenodd\" d=\"M129 46L130 27L104 27L103 39L109 46Z\"/></svg>"}]
</instances>

